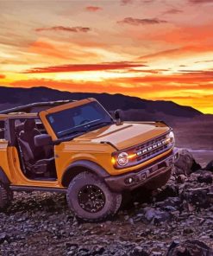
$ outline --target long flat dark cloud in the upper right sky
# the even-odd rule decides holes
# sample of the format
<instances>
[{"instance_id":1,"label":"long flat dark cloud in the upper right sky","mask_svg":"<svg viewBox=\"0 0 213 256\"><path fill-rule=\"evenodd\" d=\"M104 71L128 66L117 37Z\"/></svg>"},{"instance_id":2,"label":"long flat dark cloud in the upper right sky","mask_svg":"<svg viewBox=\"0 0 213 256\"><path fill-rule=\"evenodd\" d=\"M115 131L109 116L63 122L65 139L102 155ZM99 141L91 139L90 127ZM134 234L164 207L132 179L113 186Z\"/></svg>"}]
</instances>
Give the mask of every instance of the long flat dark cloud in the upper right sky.
<instances>
[{"instance_id":1,"label":"long flat dark cloud in the upper right sky","mask_svg":"<svg viewBox=\"0 0 213 256\"><path fill-rule=\"evenodd\" d=\"M140 25L153 25L153 24L166 23L166 21L160 20L158 18L137 19L137 18L127 17L127 18L124 18L122 21L118 21L117 23L140 26Z\"/></svg>"}]
</instances>

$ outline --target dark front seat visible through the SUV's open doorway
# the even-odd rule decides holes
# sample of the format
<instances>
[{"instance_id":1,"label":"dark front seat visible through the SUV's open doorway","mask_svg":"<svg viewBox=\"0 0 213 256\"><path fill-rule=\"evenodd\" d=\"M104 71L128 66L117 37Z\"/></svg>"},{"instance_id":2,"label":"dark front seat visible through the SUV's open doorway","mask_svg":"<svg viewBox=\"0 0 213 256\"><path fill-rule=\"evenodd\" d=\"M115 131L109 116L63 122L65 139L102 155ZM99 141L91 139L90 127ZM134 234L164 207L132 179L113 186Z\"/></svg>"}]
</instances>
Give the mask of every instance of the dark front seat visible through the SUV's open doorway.
<instances>
[{"instance_id":1,"label":"dark front seat visible through the SUV's open doorway","mask_svg":"<svg viewBox=\"0 0 213 256\"><path fill-rule=\"evenodd\" d=\"M40 134L34 119L27 119L18 137L25 168L33 175L43 175L54 165L54 157L46 158L44 148L34 144L34 137Z\"/></svg>"}]
</instances>

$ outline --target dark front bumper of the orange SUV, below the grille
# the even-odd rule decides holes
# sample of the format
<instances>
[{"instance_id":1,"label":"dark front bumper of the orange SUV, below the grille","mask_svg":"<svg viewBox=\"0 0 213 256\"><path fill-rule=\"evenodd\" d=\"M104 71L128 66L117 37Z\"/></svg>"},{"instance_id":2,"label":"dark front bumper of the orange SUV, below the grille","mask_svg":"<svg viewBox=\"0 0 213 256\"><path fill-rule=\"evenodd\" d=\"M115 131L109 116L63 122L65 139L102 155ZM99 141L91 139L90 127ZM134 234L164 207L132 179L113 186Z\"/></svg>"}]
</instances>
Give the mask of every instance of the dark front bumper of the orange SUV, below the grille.
<instances>
[{"instance_id":1,"label":"dark front bumper of the orange SUV, below the grille","mask_svg":"<svg viewBox=\"0 0 213 256\"><path fill-rule=\"evenodd\" d=\"M157 162L150 164L142 170L128 172L127 174L119 176L108 176L105 178L105 182L111 190L116 192L122 192L124 190L133 190L147 184L151 184L153 180L162 178L171 173L173 164L179 158L179 151L177 149L172 150L172 153L159 159Z\"/></svg>"}]
</instances>

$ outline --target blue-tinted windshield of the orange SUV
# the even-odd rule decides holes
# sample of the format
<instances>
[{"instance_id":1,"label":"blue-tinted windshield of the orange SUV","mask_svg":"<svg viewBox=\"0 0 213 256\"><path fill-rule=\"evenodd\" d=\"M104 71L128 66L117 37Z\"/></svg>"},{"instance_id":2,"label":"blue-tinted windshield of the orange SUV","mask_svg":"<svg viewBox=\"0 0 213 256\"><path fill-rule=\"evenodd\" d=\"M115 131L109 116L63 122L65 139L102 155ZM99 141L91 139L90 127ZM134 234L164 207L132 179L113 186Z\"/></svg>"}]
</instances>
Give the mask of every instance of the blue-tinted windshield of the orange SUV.
<instances>
[{"instance_id":1,"label":"blue-tinted windshield of the orange SUV","mask_svg":"<svg viewBox=\"0 0 213 256\"><path fill-rule=\"evenodd\" d=\"M113 122L110 114L96 101L47 115L58 138L84 133Z\"/></svg>"}]
</instances>

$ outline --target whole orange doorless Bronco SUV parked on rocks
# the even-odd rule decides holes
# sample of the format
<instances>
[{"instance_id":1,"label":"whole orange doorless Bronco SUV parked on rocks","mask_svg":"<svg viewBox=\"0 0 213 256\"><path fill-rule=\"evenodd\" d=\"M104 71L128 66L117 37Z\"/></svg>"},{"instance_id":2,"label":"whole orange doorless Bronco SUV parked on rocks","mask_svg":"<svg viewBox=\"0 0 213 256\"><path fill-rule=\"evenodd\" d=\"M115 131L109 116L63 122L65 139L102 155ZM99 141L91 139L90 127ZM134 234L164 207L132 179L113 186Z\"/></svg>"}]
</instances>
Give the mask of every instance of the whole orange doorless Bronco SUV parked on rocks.
<instances>
[{"instance_id":1,"label":"whole orange doorless Bronco SUV parked on rocks","mask_svg":"<svg viewBox=\"0 0 213 256\"><path fill-rule=\"evenodd\" d=\"M115 214L122 192L160 188L178 152L163 122L121 122L96 99L0 112L0 208L12 191L65 192L78 217Z\"/></svg>"}]
</instances>

